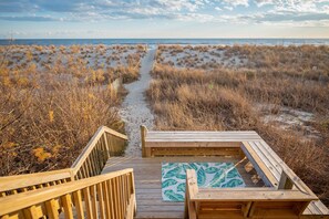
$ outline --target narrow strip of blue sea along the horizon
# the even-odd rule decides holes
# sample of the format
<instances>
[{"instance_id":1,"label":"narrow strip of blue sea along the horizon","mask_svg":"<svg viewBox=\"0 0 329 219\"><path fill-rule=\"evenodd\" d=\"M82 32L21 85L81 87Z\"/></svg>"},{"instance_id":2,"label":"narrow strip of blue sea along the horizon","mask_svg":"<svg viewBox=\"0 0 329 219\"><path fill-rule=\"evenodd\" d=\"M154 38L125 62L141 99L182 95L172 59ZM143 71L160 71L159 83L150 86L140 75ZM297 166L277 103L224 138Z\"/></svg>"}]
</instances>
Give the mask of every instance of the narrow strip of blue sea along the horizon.
<instances>
[{"instance_id":1,"label":"narrow strip of blue sea along the horizon","mask_svg":"<svg viewBox=\"0 0 329 219\"><path fill-rule=\"evenodd\" d=\"M0 45L9 40L0 40ZM20 39L11 44L20 45L73 45L73 44L257 44L257 45L329 45L329 39Z\"/></svg>"}]
</instances>

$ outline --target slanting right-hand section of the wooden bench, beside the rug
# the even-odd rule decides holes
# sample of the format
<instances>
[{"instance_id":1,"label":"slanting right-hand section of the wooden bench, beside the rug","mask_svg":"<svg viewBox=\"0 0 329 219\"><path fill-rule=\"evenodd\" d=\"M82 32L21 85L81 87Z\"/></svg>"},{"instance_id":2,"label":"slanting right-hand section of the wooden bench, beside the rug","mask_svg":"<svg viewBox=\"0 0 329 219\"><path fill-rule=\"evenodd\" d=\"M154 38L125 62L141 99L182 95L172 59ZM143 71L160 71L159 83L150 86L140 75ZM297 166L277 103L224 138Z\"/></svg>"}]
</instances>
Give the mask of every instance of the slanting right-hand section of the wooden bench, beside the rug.
<instances>
[{"instance_id":1,"label":"slanting right-hand section of the wooden bench, beside the rug","mask_svg":"<svg viewBox=\"0 0 329 219\"><path fill-rule=\"evenodd\" d=\"M312 194L265 140L243 142L241 149L267 186ZM302 216L306 218L329 218L329 210L320 200L313 200L307 206Z\"/></svg>"}]
</instances>

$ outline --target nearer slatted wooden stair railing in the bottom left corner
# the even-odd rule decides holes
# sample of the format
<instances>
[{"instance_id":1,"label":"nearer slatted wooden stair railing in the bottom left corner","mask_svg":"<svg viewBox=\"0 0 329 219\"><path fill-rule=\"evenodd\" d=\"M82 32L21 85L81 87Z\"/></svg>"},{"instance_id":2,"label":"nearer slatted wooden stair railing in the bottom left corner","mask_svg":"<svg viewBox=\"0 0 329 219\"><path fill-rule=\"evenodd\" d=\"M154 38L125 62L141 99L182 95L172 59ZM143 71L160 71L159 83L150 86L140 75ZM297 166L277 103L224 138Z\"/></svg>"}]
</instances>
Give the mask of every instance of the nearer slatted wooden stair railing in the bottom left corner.
<instances>
[{"instance_id":1,"label":"nearer slatted wooden stair railing in the bottom left corner","mask_svg":"<svg viewBox=\"0 0 329 219\"><path fill-rule=\"evenodd\" d=\"M0 198L0 218L133 218L133 169Z\"/></svg>"}]
</instances>

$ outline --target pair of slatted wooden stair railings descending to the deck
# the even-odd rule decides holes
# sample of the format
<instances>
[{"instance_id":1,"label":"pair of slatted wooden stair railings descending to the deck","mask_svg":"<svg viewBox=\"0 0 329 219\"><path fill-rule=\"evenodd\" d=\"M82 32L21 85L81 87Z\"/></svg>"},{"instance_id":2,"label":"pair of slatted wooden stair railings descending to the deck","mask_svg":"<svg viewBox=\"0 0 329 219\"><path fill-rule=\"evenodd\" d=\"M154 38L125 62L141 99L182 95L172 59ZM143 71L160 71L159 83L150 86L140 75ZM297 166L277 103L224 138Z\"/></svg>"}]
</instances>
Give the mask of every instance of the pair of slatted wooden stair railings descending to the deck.
<instances>
[{"instance_id":1,"label":"pair of slatted wooden stair railings descending to the deck","mask_svg":"<svg viewBox=\"0 0 329 219\"><path fill-rule=\"evenodd\" d=\"M126 136L97 129L71 168L0 178L0 218L134 218L133 169L101 171Z\"/></svg>"}]
</instances>

